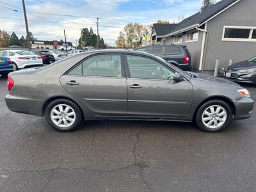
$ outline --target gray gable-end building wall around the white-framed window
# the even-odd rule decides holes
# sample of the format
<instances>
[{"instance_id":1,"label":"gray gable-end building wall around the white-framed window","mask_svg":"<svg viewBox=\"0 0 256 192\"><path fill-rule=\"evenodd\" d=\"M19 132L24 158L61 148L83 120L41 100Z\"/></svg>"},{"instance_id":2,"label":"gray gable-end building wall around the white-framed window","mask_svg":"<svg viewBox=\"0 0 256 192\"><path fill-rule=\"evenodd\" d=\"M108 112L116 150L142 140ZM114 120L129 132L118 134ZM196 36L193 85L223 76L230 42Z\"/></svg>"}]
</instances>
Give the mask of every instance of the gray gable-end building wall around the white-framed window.
<instances>
[{"instance_id":1,"label":"gray gable-end building wall around the white-framed window","mask_svg":"<svg viewBox=\"0 0 256 192\"><path fill-rule=\"evenodd\" d=\"M256 56L256 42L222 41L223 26L256 27L256 1L241 0L209 20L203 62L205 73L212 74L216 59L220 59L220 67L227 67L230 59L235 63Z\"/></svg>"}]
</instances>

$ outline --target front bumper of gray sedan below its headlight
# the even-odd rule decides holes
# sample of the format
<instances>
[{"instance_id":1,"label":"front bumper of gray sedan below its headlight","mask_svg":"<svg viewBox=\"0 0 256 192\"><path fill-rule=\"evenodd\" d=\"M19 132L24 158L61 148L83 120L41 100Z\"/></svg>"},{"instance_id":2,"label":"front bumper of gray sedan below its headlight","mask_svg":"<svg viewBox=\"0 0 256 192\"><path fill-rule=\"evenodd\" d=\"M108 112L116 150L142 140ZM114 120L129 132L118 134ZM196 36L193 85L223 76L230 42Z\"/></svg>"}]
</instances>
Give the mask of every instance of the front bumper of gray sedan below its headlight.
<instances>
[{"instance_id":1,"label":"front bumper of gray sedan below its headlight","mask_svg":"<svg viewBox=\"0 0 256 192\"><path fill-rule=\"evenodd\" d=\"M236 104L236 115L234 116L234 120L250 118L254 107L254 101L251 98L242 97L234 100L234 102Z\"/></svg>"}]
</instances>

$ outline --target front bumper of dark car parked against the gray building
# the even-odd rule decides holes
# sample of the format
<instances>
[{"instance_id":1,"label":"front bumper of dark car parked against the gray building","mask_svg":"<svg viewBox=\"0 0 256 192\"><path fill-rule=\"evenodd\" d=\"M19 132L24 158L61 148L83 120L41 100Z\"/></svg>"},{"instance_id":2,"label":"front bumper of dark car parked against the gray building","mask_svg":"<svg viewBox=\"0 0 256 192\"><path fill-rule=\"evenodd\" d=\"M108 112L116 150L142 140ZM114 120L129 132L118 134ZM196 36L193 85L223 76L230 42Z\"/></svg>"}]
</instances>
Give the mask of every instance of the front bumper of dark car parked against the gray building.
<instances>
[{"instance_id":1,"label":"front bumper of dark car parked against the gray building","mask_svg":"<svg viewBox=\"0 0 256 192\"><path fill-rule=\"evenodd\" d=\"M230 77L227 76L227 74L230 74ZM224 72L224 76L229 79L230 81L235 81L237 83L256 83L256 73L252 72L252 73L241 73L241 72L237 72L237 71L225 71Z\"/></svg>"}]
</instances>

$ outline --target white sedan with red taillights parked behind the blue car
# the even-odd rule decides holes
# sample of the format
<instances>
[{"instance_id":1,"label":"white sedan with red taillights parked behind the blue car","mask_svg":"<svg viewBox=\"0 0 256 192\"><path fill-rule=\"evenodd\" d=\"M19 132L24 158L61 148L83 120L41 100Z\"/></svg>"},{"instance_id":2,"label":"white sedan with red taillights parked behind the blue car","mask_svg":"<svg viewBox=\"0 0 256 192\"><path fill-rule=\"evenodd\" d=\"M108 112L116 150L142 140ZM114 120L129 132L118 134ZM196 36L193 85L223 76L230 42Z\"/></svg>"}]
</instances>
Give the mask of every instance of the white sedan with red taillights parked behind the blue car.
<instances>
[{"instance_id":1,"label":"white sedan with red taillights parked behind the blue car","mask_svg":"<svg viewBox=\"0 0 256 192\"><path fill-rule=\"evenodd\" d=\"M43 66L43 60L40 56L23 50L0 51L0 56L10 58L13 64L13 70L28 67Z\"/></svg>"}]
</instances>

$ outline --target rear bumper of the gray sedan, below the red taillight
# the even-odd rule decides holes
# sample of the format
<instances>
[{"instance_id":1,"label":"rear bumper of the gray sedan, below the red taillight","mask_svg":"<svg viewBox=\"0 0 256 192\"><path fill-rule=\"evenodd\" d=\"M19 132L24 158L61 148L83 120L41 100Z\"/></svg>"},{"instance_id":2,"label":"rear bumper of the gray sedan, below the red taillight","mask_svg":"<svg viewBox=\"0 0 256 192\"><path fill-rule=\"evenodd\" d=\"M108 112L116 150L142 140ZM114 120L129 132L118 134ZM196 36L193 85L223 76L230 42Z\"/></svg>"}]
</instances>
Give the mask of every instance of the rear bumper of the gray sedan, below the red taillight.
<instances>
[{"instance_id":1,"label":"rear bumper of the gray sedan, below the red taillight","mask_svg":"<svg viewBox=\"0 0 256 192\"><path fill-rule=\"evenodd\" d=\"M44 99L6 95L5 102L10 111L29 115L42 116Z\"/></svg>"}]
</instances>

